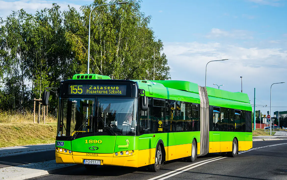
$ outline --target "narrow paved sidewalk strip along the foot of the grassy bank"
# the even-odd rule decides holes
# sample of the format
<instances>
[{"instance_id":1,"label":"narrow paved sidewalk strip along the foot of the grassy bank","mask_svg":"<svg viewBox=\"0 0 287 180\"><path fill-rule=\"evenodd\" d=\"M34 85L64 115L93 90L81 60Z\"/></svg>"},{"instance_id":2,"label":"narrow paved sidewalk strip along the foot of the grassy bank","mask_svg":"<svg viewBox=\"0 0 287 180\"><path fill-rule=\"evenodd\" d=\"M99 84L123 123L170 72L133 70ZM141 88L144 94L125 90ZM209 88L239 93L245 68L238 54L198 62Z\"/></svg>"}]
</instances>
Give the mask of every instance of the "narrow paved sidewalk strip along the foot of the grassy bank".
<instances>
[{"instance_id":1,"label":"narrow paved sidewalk strip along the foot of the grassy bank","mask_svg":"<svg viewBox=\"0 0 287 180\"><path fill-rule=\"evenodd\" d=\"M30 145L30 146L14 146L0 148L0 157L14 156L20 154L51 151L55 149L55 143L43 145Z\"/></svg>"}]
</instances>

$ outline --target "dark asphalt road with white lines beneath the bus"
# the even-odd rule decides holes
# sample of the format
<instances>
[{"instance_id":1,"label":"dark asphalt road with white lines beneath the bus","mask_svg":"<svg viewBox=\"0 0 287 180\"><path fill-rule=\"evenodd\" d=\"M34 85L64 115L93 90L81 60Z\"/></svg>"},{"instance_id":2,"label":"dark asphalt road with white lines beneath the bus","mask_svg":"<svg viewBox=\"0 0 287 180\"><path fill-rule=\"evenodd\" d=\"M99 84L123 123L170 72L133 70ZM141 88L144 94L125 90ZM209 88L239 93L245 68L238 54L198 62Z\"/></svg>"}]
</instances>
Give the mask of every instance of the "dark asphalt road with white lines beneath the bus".
<instances>
[{"instance_id":1,"label":"dark asphalt road with white lines beneath the bus","mask_svg":"<svg viewBox=\"0 0 287 180\"><path fill-rule=\"evenodd\" d=\"M182 168L179 170L179 168ZM178 170L178 171L174 171ZM160 176L162 175L162 176ZM73 169L31 178L31 180L175 180L175 179L284 179L287 180L287 140L253 142L253 149L240 153L236 158L222 157L217 153L198 157L194 163L182 159L169 161L158 173L144 167L100 166L86 170L83 165Z\"/></svg>"}]
</instances>

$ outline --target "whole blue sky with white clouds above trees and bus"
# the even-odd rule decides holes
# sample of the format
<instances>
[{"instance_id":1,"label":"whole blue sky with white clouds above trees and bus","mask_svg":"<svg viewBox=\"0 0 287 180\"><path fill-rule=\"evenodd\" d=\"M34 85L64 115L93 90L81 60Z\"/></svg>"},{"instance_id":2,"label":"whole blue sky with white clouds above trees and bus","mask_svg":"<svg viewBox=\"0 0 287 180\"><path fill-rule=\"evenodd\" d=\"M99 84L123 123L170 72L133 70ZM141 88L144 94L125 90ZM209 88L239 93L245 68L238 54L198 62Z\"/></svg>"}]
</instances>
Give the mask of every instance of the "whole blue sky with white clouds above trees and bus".
<instances>
[{"instance_id":1,"label":"whole blue sky with white clouds above trees and bus","mask_svg":"<svg viewBox=\"0 0 287 180\"><path fill-rule=\"evenodd\" d=\"M28 12L58 3L77 9L92 1L0 0L0 17L11 10ZM151 15L150 27L164 43L173 80L224 84L221 89L241 91L253 104L270 105L270 85L287 82L287 0L143 0L141 11ZM287 110L287 83L272 86L272 108ZM285 106L285 107L284 107ZM257 108L266 114L269 108Z\"/></svg>"}]
</instances>

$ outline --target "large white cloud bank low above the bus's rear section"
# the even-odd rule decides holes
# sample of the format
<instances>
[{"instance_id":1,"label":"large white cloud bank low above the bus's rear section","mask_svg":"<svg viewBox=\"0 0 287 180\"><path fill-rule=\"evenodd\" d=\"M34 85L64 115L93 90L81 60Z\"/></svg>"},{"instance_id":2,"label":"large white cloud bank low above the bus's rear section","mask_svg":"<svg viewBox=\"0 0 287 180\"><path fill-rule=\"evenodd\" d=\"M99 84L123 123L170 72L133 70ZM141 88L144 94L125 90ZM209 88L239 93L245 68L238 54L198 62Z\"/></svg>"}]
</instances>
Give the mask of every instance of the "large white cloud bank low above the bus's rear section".
<instances>
[{"instance_id":1,"label":"large white cloud bank low above the bus's rear section","mask_svg":"<svg viewBox=\"0 0 287 180\"><path fill-rule=\"evenodd\" d=\"M216 87L214 83L224 84L220 89L239 92L240 76L243 76L243 92L249 94L251 102L256 88L256 98L269 105L270 85L274 82L287 82L287 46L244 48L220 43L165 43L164 53L172 68L172 80L187 80L200 86L205 85L207 62L229 59L208 64L207 86ZM287 83L277 86L274 90L272 88L274 105L286 106L286 88Z\"/></svg>"}]
</instances>

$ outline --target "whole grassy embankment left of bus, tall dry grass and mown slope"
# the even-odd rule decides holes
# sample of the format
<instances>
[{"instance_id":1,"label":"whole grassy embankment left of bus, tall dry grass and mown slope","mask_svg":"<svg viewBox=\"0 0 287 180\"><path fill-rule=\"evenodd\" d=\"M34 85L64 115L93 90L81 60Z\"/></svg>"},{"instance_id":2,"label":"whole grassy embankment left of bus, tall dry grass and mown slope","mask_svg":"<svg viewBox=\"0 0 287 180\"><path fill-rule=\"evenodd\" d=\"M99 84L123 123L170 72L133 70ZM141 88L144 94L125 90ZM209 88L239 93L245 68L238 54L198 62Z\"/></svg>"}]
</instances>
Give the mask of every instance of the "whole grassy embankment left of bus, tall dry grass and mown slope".
<instances>
[{"instance_id":1,"label":"whole grassy embankment left of bus, tall dry grass and mown slope","mask_svg":"<svg viewBox=\"0 0 287 180\"><path fill-rule=\"evenodd\" d=\"M55 143L57 119L49 116L43 123L42 119L40 124L33 123L32 113L23 116L0 111L0 148Z\"/></svg>"}]
</instances>

